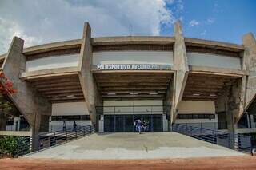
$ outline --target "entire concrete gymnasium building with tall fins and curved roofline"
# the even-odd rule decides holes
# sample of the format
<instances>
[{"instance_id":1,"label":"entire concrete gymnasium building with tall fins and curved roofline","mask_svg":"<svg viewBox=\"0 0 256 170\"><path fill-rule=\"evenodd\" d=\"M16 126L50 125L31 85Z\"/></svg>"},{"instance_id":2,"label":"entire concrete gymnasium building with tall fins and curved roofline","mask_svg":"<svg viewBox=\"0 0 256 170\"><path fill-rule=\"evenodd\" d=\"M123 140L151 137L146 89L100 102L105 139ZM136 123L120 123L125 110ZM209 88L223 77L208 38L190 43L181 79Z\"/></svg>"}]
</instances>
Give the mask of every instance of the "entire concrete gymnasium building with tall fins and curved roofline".
<instances>
[{"instance_id":1,"label":"entire concrete gymnasium building with tall fins and curved roofline","mask_svg":"<svg viewBox=\"0 0 256 170\"><path fill-rule=\"evenodd\" d=\"M18 90L10 99L34 135L42 125L62 129L63 121L133 132L138 118L150 132L178 123L256 132L253 34L242 45L184 38L177 22L174 37L92 38L85 23L81 39L23 44L14 37L0 61Z\"/></svg>"}]
</instances>

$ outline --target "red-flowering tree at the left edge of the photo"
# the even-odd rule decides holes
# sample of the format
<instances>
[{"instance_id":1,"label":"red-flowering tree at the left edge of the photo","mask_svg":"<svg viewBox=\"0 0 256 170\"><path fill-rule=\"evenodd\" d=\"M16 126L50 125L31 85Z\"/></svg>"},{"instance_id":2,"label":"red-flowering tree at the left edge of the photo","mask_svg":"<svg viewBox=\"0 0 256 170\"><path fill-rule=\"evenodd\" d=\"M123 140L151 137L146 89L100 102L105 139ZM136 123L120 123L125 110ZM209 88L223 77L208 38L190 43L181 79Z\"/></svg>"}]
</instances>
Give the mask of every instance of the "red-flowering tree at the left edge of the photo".
<instances>
[{"instance_id":1,"label":"red-flowering tree at the left edge of the photo","mask_svg":"<svg viewBox=\"0 0 256 170\"><path fill-rule=\"evenodd\" d=\"M16 108L10 101L8 95L14 94L17 91L13 87L13 83L0 72L0 130L6 129L6 120L14 116Z\"/></svg>"}]
</instances>

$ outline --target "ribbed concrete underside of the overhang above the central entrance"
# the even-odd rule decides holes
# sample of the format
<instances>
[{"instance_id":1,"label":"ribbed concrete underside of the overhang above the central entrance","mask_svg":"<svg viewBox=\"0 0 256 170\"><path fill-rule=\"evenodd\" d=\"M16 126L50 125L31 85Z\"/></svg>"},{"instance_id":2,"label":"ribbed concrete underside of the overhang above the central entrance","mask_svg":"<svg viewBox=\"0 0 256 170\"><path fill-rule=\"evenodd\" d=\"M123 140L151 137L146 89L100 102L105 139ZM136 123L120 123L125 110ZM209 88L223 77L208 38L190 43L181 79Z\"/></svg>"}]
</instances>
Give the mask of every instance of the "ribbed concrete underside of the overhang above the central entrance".
<instances>
[{"instance_id":1,"label":"ribbed concrete underside of the overhang above the central entrance","mask_svg":"<svg viewBox=\"0 0 256 170\"><path fill-rule=\"evenodd\" d=\"M101 72L94 73L104 99L163 98L173 77L171 72Z\"/></svg>"}]
</instances>

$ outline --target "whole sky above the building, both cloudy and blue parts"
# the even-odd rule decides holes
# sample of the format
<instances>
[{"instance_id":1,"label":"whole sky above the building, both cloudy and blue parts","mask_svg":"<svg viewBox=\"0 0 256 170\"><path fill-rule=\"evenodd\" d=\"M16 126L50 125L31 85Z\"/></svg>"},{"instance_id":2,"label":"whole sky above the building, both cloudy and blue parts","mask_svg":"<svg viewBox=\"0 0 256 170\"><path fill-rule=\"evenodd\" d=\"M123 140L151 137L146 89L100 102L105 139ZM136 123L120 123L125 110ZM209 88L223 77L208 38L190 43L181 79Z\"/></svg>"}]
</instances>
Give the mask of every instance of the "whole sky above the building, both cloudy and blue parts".
<instances>
[{"instance_id":1,"label":"whole sky above the building, both cloudy and blue parts","mask_svg":"<svg viewBox=\"0 0 256 170\"><path fill-rule=\"evenodd\" d=\"M82 38L84 22L93 37L173 35L242 43L256 34L255 0L0 0L0 54L14 36L25 47Z\"/></svg>"}]
</instances>

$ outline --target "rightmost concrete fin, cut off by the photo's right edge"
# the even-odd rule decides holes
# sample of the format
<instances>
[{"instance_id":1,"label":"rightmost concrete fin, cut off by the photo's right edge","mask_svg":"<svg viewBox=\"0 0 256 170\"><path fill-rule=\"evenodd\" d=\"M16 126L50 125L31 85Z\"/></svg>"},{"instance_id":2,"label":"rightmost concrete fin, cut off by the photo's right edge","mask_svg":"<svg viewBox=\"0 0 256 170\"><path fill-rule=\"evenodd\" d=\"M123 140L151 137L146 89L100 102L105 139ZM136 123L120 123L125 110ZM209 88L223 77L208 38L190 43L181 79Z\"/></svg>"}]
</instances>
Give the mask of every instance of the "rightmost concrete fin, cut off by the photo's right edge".
<instances>
[{"instance_id":1,"label":"rightmost concrete fin, cut off by the photo's right edge","mask_svg":"<svg viewBox=\"0 0 256 170\"><path fill-rule=\"evenodd\" d=\"M248 77L243 77L246 86L244 109L247 109L256 95L256 40L254 34L245 34L242 37L242 44L245 46L243 53L243 69L249 71ZM241 117L240 113L240 117Z\"/></svg>"}]
</instances>

